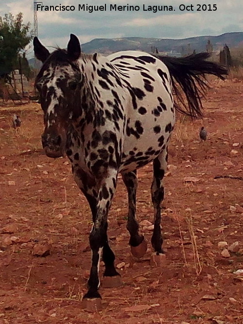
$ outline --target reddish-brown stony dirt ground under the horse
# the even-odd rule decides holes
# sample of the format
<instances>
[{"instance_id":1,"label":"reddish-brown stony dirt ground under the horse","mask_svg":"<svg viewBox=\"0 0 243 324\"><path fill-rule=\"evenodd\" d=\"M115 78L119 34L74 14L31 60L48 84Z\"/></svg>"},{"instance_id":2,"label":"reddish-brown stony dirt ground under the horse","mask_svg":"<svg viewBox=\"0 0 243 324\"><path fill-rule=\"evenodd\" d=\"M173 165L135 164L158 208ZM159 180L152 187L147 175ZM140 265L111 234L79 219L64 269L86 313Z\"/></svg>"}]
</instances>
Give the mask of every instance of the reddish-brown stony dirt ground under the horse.
<instances>
[{"instance_id":1,"label":"reddish-brown stony dirt ground under the horse","mask_svg":"<svg viewBox=\"0 0 243 324\"><path fill-rule=\"evenodd\" d=\"M99 313L81 308L91 217L69 162L44 155L38 104L0 108L0 232L12 232L0 234L0 324L243 323L243 277L233 273L243 269L243 181L214 180L243 177L243 82L214 81L204 107L203 121L180 118L170 144L169 164L177 168L165 178L167 264L161 269L149 264L151 231L144 230L145 256L130 256L120 177L109 238L116 264L125 263L123 286L101 287ZM23 121L18 131L11 127L14 112ZM205 143L198 138L202 125L209 133ZM139 222L153 222L151 179L151 165L139 170ZM7 225L13 226L4 230ZM220 241L238 241L240 250L224 258ZM38 243L49 245L51 255L34 256Z\"/></svg>"}]
</instances>

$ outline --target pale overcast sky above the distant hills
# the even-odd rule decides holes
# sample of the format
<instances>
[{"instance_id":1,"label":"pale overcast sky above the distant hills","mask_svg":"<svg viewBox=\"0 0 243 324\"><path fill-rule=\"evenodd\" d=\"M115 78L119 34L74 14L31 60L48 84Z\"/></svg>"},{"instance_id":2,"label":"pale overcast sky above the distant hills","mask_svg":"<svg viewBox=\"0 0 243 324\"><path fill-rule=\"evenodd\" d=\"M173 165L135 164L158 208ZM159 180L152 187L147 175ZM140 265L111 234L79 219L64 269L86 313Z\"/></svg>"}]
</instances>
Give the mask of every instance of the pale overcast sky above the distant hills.
<instances>
[{"instance_id":1,"label":"pale overcast sky above the distant hills","mask_svg":"<svg viewBox=\"0 0 243 324\"><path fill-rule=\"evenodd\" d=\"M4 2L4 3L2 3ZM190 6L193 11L179 10L179 5ZM89 13L79 11L78 5L104 5L106 11ZM73 5L75 11L38 11L39 39L47 46L66 47L69 34L77 35L81 43L94 38L156 37L186 38L191 36L220 35L243 31L243 0L43 0L43 5ZM110 4L139 5L139 11L110 11ZM207 9L197 11L197 4ZM208 5L211 5L209 7ZM173 11L144 11L149 5L172 5ZM24 22L33 28L33 0L0 0L0 16L22 12Z\"/></svg>"}]
</instances>

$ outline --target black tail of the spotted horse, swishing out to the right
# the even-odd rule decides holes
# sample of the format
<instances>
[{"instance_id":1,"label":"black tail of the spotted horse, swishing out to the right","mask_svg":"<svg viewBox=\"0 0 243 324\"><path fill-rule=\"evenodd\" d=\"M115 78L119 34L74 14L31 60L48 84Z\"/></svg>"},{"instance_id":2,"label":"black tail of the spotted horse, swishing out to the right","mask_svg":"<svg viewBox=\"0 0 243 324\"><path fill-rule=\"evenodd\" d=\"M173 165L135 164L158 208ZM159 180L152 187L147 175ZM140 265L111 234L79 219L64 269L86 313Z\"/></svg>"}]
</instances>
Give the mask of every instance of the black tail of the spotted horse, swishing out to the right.
<instances>
[{"instance_id":1,"label":"black tail of the spotted horse, swishing out to the right","mask_svg":"<svg viewBox=\"0 0 243 324\"><path fill-rule=\"evenodd\" d=\"M209 88L206 74L213 74L222 80L223 75L228 74L225 67L207 61L211 56L209 53L191 54L186 57L169 57L154 55L161 60L169 69L172 78L172 85L179 104L175 103L177 111L184 115L202 117L202 101L206 90ZM188 106L185 104L177 84L186 95Z\"/></svg>"}]
</instances>

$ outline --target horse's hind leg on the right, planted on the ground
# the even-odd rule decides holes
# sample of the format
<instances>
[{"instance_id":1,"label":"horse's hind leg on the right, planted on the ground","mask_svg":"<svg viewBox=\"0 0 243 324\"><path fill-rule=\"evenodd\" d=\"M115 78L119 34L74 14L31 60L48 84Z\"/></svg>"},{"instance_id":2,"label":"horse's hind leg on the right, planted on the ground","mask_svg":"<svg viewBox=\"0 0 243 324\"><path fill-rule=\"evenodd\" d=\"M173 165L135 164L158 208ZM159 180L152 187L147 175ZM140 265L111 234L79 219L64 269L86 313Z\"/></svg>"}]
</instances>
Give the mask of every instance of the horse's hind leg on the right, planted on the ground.
<instances>
[{"instance_id":1,"label":"horse's hind leg on the right, planted on the ground","mask_svg":"<svg viewBox=\"0 0 243 324\"><path fill-rule=\"evenodd\" d=\"M160 204L164 198L163 178L167 169L168 150L167 147L153 161L154 179L151 185L151 196L154 205L154 232L151 243L154 248L154 254L151 258L151 265L161 266L165 261L165 254L162 249L161 234L161 207Z\"/></svg>"}]
</instances>

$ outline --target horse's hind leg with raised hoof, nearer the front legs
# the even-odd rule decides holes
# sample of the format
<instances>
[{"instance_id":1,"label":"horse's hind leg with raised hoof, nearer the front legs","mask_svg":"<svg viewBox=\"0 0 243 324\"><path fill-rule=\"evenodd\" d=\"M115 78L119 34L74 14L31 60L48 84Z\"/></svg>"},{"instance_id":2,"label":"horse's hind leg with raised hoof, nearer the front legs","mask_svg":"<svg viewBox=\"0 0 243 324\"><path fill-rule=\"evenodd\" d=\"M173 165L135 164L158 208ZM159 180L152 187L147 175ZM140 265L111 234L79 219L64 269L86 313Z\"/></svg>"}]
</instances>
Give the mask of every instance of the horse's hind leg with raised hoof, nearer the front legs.
<instances>
[{"instance_id":1,"label":"horse's hind leg with raised hoof, nearer the front legs","mask_svg":"<svg viewBox=\"0 0 243 324\"><path fill-rule=\"evenodd\" d=\"M147 242L143 235L139 235L139 223L136 219L137 171L123 173L122 180L128 193L127 230L130 233L129 245L131 246L132 254L140 258L147 251Z\"/></svg>"}]
</instances>

